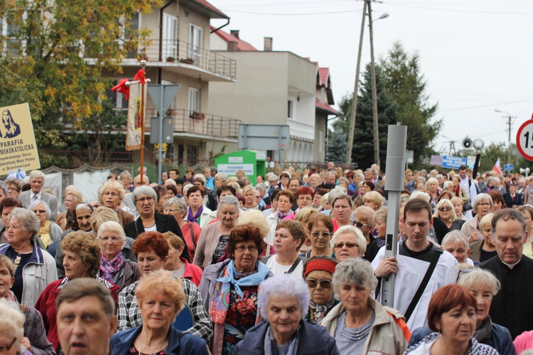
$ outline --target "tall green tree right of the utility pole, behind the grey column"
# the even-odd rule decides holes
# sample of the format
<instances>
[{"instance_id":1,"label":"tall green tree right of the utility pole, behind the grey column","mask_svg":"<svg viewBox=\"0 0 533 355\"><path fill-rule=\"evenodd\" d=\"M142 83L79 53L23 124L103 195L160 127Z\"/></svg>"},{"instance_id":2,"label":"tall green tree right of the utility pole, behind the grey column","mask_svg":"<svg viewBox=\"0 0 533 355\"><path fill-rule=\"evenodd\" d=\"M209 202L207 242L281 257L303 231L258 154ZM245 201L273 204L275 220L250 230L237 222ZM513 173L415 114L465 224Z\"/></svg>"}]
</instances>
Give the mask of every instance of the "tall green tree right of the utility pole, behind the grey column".
<instances>
[{"instance_id":1,"label":"tall green tree right of the utility pole, behind the grey column","mask_svg":"<svg viewBox=\"0 0 533 355\"><path fill-rule=\"evenodd\" d=\"M442 119L434 119L437 104L429 104L420 57L407 53L402 43L396 42L381 60L381 67L385 90L397 103L399 121L407 126L407 149L414 151L414 168L421 168L435 153L431 142L441 129Z\"/></svg>"}]
</instances>

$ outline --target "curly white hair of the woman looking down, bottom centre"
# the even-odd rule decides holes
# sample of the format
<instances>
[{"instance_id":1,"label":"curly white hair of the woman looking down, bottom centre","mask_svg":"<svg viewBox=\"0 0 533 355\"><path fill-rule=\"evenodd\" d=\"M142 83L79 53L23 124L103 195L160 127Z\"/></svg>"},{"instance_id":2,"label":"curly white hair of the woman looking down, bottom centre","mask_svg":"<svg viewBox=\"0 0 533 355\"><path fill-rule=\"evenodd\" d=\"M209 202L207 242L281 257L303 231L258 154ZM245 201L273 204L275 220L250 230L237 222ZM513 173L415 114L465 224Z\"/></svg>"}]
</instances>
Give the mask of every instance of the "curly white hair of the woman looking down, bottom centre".
<instances>
[{"instance_id":1,"label":"curly white hair of the woman looking down, bottom centre","mask_svg":"<svg viewBox=\"0 0 533 355\"><path fill-rule=\"evenodd\" d=\"M259 285L259 288L261 292L259 292L257 297L257 305L264 319L268 319L266 310L268 309L269 300L272 295L296 297L300 304L301 319L306 319L311 295L309 288L302 278L294 278L289 274L282 273L267 278Z\"/></svg>"}]
</instances>

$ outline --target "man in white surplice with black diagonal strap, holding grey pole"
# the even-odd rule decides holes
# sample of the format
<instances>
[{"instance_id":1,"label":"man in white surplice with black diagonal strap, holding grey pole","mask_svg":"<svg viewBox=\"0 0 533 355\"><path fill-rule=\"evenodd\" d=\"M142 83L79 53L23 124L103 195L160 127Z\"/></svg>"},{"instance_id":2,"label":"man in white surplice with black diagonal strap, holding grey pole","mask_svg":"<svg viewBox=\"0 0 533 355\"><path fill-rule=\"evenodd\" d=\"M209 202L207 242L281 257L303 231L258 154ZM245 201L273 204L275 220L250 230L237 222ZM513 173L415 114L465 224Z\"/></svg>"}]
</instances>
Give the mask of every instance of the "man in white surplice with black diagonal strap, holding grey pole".
<instances>
[{"instance_id":1,"label":"man in white surplice with black diagonal strap, holding grey pole","mask_svg":"<svg viewBox=\"0 0 533 355\"><path fill-rule=\"evenodd\" d=\"M393 308L399 310L402 315L405 314L414 298L416 290L418 290L429 268L431 258L434 257L435 253L438 253L436 251L438 246L427 238L429 229L433 225L431 210L431 204L421 198L409 200L404 207L404 230L407 234L407 240L399 243L397 258L394 256L384 258L385 247L383 246L372 261L372 268L378 278L389 273L397 274L394 281ZM448 251L443 251L424 293L407 321L407 326L411 332L416 328L428 326L427 312L431 295L443 285L455 282L456 264L456 258ZM376 296L379 301L381 295Z\"/></svg>"}]
</instances>

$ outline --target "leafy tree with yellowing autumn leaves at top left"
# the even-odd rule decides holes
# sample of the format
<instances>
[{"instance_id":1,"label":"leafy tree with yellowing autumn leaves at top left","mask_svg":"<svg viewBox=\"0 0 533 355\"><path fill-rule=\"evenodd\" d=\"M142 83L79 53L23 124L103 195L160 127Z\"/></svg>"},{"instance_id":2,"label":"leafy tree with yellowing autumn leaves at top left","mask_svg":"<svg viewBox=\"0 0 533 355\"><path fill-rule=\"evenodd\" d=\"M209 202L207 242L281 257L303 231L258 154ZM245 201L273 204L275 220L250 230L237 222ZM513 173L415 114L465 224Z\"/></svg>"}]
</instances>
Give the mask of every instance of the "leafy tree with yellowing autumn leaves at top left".
<instances>
[{"instance_id":1,"label":"leafy tree with yellowing autumn leaves at top left","mask_svg":"<svg viewBox=\"0 0 533 355\"><path fill-rule=\"evenodd\" d=\"M63 148L63 125L80 128L102 112L110 83L102 72L146 43L149 31L131 28L132 16L161 0L9 0L0 8L0 102L28 102L39 148Z\"/></svg>"}]
</instances>

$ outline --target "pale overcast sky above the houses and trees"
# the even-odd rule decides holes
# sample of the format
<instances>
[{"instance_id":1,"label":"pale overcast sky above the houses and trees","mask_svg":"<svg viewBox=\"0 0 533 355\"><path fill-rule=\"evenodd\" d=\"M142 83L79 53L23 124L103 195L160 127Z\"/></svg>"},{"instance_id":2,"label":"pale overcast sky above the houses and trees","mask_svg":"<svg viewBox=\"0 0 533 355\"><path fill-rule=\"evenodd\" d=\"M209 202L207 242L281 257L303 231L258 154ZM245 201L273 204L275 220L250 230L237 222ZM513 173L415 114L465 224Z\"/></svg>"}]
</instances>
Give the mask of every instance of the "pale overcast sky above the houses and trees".
<instances>
[{"instance_id":1,"label":"pale overcast sky above the houses and trees","mask_svg":"<svg viewBox=\"0 0 533 355\"><path fill-rule=\"evenodd\" d=\"M210 0L230 16L224 31L239 30L242 40L263 49L288 50L329 67L335 104L353 92L363 1ZM376 60L396 41L418 53L429 104L443 126L434 148L449 153L450 141L464 138L485 146L505 143L512 116L511 141L533 113L533 1L384 0L372 3ZM225 21L212 20L212 26ZM368 18L365 23L368 23ZM370 62L365 26L362 72ZM238 70L238 67L237 67ZM337 106L334 106L338 108ZM504 113L495 110L505 111Z\"/></svg>"}]
</instances>

